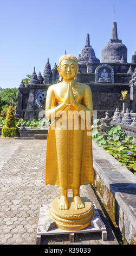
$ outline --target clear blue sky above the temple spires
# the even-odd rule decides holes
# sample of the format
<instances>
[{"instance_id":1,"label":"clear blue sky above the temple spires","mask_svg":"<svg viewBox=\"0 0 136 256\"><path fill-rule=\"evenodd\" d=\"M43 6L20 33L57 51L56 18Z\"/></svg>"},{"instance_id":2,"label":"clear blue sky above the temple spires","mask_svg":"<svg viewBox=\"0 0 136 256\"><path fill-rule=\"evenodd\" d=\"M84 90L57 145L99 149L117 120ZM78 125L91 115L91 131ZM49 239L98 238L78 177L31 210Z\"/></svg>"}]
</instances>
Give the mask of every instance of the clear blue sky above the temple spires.
<instances>
[{"instance_id":1,"label":"clear blue sky above the temple spires","mask_svg":"<svg viewBox=\"0 0 136 256\"><path fill-rule=\"evenodd\" d=\"M128 62L136 51L136 0L0 0L0 87L14 88L27 74L43 74L67 50L76 57L90 45L101 60L112 35L114 4L118 38L126 45Z\"/></svg>"}]
</instances>

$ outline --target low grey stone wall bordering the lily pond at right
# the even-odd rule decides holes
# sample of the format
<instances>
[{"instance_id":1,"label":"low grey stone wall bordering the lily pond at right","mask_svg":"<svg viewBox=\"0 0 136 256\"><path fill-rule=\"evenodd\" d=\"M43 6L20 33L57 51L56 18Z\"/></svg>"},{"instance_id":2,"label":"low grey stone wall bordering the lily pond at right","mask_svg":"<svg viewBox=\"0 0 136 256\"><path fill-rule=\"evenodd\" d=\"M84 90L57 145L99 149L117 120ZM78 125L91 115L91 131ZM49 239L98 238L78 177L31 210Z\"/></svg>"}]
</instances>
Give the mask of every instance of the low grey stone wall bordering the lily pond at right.
<instances>
[{"instance_id":1,"label":"low grey stone wall bordering the lily pond at right","mask_svg":"<svg viewBox=\"0 0 136 256\"><path fill-rule=\"evenodd\" d=\"M114 225L136 244L136 176L93 142L95 186Z\"/></svg>"}]
</instances>

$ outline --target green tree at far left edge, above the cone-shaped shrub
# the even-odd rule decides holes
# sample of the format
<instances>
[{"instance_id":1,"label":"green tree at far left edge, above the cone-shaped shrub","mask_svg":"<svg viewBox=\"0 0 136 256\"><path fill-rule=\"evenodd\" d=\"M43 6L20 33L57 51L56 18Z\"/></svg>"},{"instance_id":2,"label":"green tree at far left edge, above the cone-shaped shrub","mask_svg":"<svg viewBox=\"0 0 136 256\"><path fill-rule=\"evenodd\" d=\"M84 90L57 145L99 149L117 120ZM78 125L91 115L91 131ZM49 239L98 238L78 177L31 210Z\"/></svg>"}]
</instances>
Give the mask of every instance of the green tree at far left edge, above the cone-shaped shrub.
<instances>
[{"instance_id":1,"label":"green tree at far left edge, above the cone-shaped shrub","mask_svg":"<svg viewBox=\"0 0 136 256\"><path fill-rule=\"evenodd\" d=\"M18 88L5 88L0 90L0 96L2 99L3 105L10 105L16 106L17 96L18 96Z\"/></svg>"}]
</instances>

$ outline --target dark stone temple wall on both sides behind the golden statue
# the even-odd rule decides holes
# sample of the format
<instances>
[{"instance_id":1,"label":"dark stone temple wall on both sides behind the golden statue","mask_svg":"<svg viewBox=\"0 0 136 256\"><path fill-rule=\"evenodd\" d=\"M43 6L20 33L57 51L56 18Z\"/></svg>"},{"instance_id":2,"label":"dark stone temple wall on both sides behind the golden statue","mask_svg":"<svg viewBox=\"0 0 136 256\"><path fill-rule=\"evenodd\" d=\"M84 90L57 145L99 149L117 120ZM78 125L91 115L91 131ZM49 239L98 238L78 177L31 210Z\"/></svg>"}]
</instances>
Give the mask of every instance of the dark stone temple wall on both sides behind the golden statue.
<instances>
[{"instance_id":1,"label":"dark stone temple wall on both sides behind the golden statue","mask_svg":"<svg viewBox=\"0 0 136 256\"><path fill-rule=\"evenodd\" d=\"M92 63L92 72L87 73L87 65L79 65L79 72L77 73L77 81L85 83L90 86L93 97L93 109L97 111L98 118L105 117L105 112L109 112L109 116L112 117L116 107L122 111L121 90L128 90L127 96L129 97L129 81L131 80L132 74L127 74L130 63ZM101 66L101 68L100 68ZM110 68L111 67L111 68ZM132 70L134 71L136 64L131 64ZM96 69L99 68L100 73L95 74ZM101 69L111 69L111 82L99 82ZM107 71L106 71L107 72ZM32 84L30 87L19 88L20 93L18 94L17 100L17 119L27 118L27 120L37 119L39 116L42 117L43 107L40 107L36 103L36 97L38 92L43 90L47 92L50 82L48 84ZM34 89L34 97L30 99L30 92ZM28 100L29 99L29 100ZM129 103L128 103L129 104ZM33 105L33 107L32 107ZM128 105L129 108L129 105ZM28 112L27 114L25 112ZM32 112L32 113L31 113Z\"/></svg>"}]
</instances>

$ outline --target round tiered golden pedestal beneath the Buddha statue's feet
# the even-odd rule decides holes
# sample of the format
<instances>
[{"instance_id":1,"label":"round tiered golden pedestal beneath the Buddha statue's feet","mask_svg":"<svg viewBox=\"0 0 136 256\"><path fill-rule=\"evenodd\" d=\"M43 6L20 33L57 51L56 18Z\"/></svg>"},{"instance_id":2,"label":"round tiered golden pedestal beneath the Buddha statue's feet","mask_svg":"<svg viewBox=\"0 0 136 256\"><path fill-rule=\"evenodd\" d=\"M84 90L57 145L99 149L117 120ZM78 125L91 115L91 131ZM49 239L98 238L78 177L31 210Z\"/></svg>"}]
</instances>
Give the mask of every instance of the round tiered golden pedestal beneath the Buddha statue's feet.
<instances>
[{"instance_id":1,"label":"round tiered golden pedestal beneath the Buddha statue's feet","mask_svg":"<svg viewBox=\"0 0 136 256\"><path fill-rule=\"evenodd\" d=\"M93 203L87 197L81 197L85 208L75 209L73 197L68 196L68 210L60 210L60 196L51 203L49 217L55 221L56 227L63 230L81 230L91 225L94 217Z\"/></svg>"}]
</instances>

